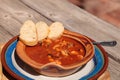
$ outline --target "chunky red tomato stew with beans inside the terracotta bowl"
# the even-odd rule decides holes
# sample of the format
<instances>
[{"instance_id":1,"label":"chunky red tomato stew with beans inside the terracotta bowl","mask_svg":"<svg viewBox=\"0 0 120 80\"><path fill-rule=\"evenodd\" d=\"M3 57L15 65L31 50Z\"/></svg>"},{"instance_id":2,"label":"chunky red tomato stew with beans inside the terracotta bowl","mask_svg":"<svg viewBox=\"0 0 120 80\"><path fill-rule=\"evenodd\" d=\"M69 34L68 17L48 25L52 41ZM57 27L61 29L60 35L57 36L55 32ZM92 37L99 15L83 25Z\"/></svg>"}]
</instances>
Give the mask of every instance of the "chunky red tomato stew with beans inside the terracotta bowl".
<instances>
[{"instance_id":1,"label":"chunky red tomato stew with beans inside the terracotta bowl","mask_svg":"<svg viewBox=\"0 0 120 80\"><path fill-rule=\"evenodd\" d=\"M84 46L80 42L65 36L54 41L45 39L36 46L26 46L25 51L32 60L38 63L56 62L63 66L77 63L85 55Z\"/></svg>"}]
</instances>

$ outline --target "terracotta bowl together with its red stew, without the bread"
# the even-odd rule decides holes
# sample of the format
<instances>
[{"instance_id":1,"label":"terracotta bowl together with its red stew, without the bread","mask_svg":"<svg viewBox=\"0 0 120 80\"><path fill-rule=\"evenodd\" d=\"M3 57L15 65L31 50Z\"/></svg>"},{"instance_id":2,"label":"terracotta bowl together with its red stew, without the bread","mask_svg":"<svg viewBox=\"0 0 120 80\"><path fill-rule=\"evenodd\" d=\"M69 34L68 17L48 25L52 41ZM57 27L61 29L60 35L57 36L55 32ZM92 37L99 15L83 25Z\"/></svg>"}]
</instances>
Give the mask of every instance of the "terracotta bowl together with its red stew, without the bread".
<instances>
[{"instance_id":1,"label":"terracotta bowl together with its red stew, without the bread","mask_svg":"<svg viewBox=\"0 0 120 80\"><path fill-rule=\"evenodd\" d=\"M16 46L19 58L46 76L61 77L73 74L94 56L92 42L82 34L65 30L62 37L55 40L56 42L47 41L49 43L47 44L48 48L45 48L44 42L30 47L18 41ZM64 47L53 48L57 44L64 45L64 42ZM74 54L75 52L77 53ZM76 56L80 59L78 60Z\"/></svg>"}]
</instances>

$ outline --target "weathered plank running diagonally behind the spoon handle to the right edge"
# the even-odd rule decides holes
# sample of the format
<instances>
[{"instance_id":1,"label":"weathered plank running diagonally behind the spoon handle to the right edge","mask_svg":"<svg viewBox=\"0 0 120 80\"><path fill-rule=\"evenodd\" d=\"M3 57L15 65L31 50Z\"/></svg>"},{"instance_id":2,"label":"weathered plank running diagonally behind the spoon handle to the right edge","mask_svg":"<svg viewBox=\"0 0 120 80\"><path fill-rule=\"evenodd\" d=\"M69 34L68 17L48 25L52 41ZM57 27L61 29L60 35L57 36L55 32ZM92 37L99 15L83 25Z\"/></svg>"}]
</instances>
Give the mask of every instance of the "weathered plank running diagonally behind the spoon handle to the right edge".
<instances>
[{"instance_id":1,"label":"weathered plank running diagonally behind the spoon handle to the right edge","mask_svg":"<svg viewBox=\"0 0 120 80\"><path fill-rule=\"evenodd\" d=\"M53 21L64 23L67 29L87 35L96 41L116 40L117 46L104 48L120 63L119 28L98 19L66 0L21 0L21 2Z\"/></svg>"}]
</instances>

